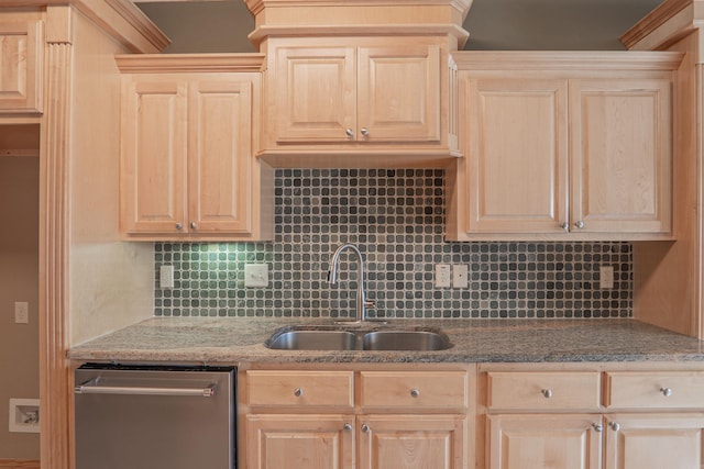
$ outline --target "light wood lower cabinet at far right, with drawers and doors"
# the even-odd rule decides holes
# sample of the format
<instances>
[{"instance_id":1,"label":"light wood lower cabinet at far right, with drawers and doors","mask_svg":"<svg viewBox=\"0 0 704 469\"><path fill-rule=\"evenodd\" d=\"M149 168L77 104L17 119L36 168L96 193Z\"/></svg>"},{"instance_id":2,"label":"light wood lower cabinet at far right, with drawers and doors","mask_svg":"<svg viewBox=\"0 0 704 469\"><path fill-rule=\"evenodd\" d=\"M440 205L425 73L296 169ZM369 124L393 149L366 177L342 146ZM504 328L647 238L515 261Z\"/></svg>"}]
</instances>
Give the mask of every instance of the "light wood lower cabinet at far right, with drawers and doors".
<instances>
[{"instance_id":1,"label":"light wood lower cabinet at far right, with drawers and doors","mask_svg":"<svg viewBox=\"0 0 704 469\"><path fill-rule=\"evenodd\" d=\"M701 370L490 370L488 469L701 469Z\"/></svg>"}]
</instances>

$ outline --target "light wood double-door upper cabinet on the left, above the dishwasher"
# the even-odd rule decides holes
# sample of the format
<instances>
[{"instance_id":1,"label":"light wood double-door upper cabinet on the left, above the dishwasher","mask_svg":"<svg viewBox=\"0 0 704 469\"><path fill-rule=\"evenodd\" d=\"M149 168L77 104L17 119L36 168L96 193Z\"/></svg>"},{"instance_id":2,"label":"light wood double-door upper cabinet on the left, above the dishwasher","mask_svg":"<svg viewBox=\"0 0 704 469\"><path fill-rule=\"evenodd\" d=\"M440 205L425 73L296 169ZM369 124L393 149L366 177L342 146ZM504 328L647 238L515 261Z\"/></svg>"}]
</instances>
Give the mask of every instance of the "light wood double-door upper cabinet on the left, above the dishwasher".
<instances>
[{"instance_id":1,"label":"light wood double-door upper cabinet on the left, above the dishwasher","mask_svg":"<svg viewBox=\"0 0 704 469\"><path fill-rule=\"evenodd\" d=\"M245 57L228 62L220 56L215 64L207 56L186 57L174 65L178 59L118 57L123 234L132 239L271 238L271 208L262 203L271 170L256 160L253 147L260 74L239 71L256 69L260 56L249 67ZM185 71L191 68L213 71Z\"/></svg>"}]
</instances>

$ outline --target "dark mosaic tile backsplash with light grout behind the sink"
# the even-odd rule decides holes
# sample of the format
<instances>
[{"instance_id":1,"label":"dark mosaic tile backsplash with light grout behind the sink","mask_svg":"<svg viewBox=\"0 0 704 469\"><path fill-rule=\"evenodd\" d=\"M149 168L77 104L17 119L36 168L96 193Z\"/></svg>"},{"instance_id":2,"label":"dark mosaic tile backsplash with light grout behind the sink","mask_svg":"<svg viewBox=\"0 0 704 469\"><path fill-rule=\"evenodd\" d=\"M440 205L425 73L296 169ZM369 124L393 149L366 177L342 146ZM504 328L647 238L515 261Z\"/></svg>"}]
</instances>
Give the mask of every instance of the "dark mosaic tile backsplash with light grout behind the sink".
<instances>
[{"instance_id":1,"label":"dark mosaic tile backsplash with light grout behind the sink","mask_svg":"<svg viewBox=\"0 0 704 469\"><path fill-rule=\"evenodd\" d=\"M354 317L364 256L370 317L630 317L629 243L447 243L438 169L279 169L273 243L156 243L157 316ZM175 288L158 284L173 265ZM267 264L267 288L245 288L244 266ZM469 268L466 289L436 288L436 264ZM600 289L600 266L614 288Z\"/></svg>"}]
</instances>

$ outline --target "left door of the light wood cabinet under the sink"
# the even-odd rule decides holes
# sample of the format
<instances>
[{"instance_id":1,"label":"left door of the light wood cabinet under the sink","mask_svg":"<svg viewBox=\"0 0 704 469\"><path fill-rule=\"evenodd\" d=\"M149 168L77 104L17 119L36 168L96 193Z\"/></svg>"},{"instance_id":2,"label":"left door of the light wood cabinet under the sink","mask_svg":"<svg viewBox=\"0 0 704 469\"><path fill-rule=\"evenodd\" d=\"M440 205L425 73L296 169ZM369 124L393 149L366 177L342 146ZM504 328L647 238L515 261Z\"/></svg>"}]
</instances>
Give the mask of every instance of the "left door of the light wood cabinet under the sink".
<instances>
[{"instance_id":1,"label":"left door of the light wood cabinet under the sink","mask_svg":"<svg viewBox=\"0 0 704 469\"><path fill-rule=\"evenodd\" d=\"M354 468L353 416L249 415L246 423L250 469Z\"/></svg>"}]
</instances>

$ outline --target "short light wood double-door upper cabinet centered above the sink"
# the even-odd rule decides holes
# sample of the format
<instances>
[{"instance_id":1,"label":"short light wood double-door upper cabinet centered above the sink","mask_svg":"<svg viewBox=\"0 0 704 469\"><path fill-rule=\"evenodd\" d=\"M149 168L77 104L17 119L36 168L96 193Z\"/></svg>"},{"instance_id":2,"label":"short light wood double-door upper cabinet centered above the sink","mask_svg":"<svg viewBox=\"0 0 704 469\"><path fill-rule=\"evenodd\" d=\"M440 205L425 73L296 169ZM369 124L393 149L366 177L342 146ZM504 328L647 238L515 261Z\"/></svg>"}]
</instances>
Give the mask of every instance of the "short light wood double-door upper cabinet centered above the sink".
<instances>
[{"instance_id":1,"label":"short light wood double-door upper cabinet centered above the sink","mask_svg":"<svg viewBox=\"0 0 704 469\"><path fill-rule=\"evenodd\" d=\"M270 41L263 148L267 160L300 166L300 159L285 163L277 157L310 158L331 150L374 153L381 157L376 161L392 157L386 161L402 166L414 158L450 157L449 64L441 41ZM346 166L340 159L321 161ZM351 163L359 165L360 159Z\"/></svg>"}]
</instances>

